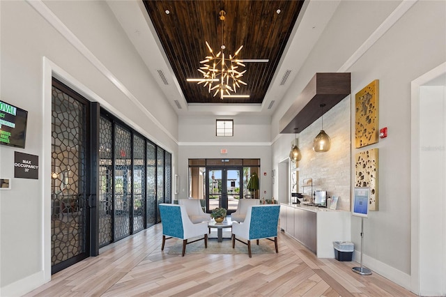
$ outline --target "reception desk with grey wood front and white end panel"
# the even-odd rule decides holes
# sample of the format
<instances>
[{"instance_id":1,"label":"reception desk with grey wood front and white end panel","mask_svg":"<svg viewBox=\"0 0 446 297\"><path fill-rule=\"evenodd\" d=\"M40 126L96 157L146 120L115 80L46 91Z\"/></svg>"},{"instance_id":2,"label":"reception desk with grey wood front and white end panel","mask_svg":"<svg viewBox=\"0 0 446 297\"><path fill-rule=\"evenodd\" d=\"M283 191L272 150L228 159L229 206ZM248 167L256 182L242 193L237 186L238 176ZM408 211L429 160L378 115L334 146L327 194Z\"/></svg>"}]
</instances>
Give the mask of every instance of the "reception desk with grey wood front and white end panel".
<instances>
[{"instance_id":1,"label":"reception desk with grey wood front and white end panel","mask_svg":"<svg viewBox=\"0 0 446 297\"><path fill-rule=\"evenodd\" d=\"M280 229L314 252L334 258L333 241L350 241L351 214L300 204L280 204Z\"/></svg>"}]
</instances>

